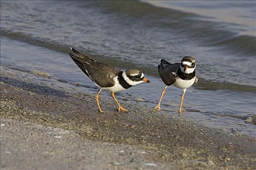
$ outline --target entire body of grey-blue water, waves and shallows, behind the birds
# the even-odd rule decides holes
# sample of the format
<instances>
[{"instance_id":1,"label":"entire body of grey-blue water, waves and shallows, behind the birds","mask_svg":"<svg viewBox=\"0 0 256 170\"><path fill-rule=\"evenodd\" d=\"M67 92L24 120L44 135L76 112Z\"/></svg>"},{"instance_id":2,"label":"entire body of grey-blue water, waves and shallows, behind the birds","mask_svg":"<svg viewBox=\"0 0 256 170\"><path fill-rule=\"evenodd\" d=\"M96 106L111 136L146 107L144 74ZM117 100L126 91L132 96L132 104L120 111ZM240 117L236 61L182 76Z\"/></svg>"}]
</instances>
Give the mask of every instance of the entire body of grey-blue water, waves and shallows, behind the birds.
<instances>
[{"instance_id":1,"label":"entire body of grey-blue water, waves and shallows, behind the birds","mask_svg":"<svg viewBox=\"0 0 256 170\"><path fill-rule=\"evenodd\" d=\"M112 66L141 69L152 83L117 96L130 102L143 98L145 107L153 108L164 87L157 71L159 59L179 62L182 56L192 55L200 82L187 90L183 115L211 127L256 136L255 126L244 123L256 114L255 1L0 3L1 65L45 71L95 93L95 85L68 55L70 47L75 47ZM168 87L161 113L176 115L181 93Z\"/></svg>"}]
</instances>

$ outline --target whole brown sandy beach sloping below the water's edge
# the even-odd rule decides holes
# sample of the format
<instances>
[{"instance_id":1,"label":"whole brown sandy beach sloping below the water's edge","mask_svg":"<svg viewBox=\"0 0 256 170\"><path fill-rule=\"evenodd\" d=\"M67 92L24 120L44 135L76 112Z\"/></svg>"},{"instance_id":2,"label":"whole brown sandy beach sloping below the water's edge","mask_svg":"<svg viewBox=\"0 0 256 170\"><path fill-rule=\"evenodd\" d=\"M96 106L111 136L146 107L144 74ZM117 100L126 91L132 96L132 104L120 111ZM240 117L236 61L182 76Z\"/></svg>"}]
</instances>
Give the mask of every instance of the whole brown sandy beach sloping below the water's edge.
<instances>
[{"instance_id":1,"label":"whole brown sandy beach sloping below the water's edge","mask_svg":"<svg viewBox=\"0 0 256 170\"><path fill-rule=\"evenodd\" d=\"M1 66L1 169L253 170L256 139ZM75 87L75 86L74 86ZM182 113L186 114L186 113Z\"/></svg>"}]
</instances>

